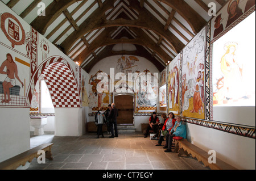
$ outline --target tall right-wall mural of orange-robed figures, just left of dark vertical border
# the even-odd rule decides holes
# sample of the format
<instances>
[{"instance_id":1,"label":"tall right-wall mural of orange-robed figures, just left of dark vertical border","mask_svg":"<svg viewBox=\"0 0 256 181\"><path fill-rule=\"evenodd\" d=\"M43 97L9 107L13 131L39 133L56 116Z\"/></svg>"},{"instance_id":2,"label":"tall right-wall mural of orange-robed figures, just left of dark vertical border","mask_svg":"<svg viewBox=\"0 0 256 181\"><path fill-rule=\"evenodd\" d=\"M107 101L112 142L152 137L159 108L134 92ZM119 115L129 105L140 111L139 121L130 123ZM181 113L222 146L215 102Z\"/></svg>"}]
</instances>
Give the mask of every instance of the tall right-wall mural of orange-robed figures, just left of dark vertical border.
<instances>
[{"instance_id":1,"label":"tall right-wall mural of orange-robed figures, just left of dark vertical border","mask_svg":"<svg viewBox=\"0 0 256 181\"><path fill-rule=\"evenodd\" d=\"M183 49L182 115L205 119L205 40L203 28Z\"/></svg>"}]
</instances>

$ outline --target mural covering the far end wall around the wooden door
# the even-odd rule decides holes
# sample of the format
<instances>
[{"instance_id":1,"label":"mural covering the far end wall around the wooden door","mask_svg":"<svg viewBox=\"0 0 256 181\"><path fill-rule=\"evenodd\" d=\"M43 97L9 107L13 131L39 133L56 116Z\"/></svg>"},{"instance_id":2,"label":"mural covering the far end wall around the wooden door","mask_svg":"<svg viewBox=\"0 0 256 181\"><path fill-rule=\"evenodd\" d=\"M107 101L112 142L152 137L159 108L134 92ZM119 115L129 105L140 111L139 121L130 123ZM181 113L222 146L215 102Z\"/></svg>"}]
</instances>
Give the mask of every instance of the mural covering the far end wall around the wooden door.
<instances>
[{"instance_id":1,"label":"mural covering the far end wall around the wooden door","mask_svg":"<svg viewBox=\"0 0 256 181\"><path fill-rule=\"evenodd\" d=\"M114 57L114 58L113 58ZM130 94L134 94L134 112L146 112L150 113L156 111L156 104L158 104L158 77L154 77L152 73L158 73L157 69L148 63L144 58L139 58L135 56L123 55L123 56L113 56L111 58L106 58L108 60L102 60L98 62L95 69L92 69L90 72L90 78L87 82L89 84L89 93L88 93L88 103L89 103L89 112L96 112L98 107L104 106L105 109L108 107L108 104L113 103L114 95L118 94L122 89ZM107 63L106 63L107 62ZM148 69L144 69L144 65L147 64ZM97 66L101 66L101 70L96 69ZM151 68L152 66L152 68ZM108 91L99 93L97 92L97 85L100 80L97 79L97 74L104 72L108 74L108 79L110 77L110 68L114 69L114 75L116 75L114 80L114 92L109 93ZM151 70L151 71L150 71ZM118 79L118 73L123 73L126 75L126 80L122 81ZM131 77L132 81L129 81L128 73L133 73ZM137 75L135 75L137 73ZM140 78L141 73L151 73L151 82L147 82L146 76L144 81L137 81ZM102 80L103 81L103 80ZM153 86L155 85L157 86ZM143 85L142 85L143 84ZM102 87L104 88L104 87ZM138 90L144 89L144 92L139 92ZM138 92L138 93L137 93Z\"/></svg>"}]
</instances>

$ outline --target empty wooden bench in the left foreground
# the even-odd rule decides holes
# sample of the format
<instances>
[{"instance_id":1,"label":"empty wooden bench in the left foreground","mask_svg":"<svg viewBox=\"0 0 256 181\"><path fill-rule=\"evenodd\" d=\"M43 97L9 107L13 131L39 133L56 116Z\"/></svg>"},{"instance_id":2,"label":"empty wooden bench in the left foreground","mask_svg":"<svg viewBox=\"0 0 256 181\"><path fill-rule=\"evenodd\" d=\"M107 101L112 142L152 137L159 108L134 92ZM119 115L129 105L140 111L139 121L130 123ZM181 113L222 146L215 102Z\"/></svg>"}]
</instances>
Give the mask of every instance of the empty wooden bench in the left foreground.
<instances>
[{"instance_id":1,"label":"empty wooden bench in the left foreground","mask_svg":"<svg viewBox=\"0 0 256 181\"><path fill-rule=\"evenodd\" d=\"M51 153L52 145L53 145L52 143L42 144L30 150L24 151L23 153L20 153L13 158L7 159L6 161L3 161L0 163L0 170L15 170L20 165L22 166L26 165L26 162L31 162L32 159L38 158L40 156L38 154L39 150L44 150L46 152L46 158L49 160L52 160L53 159L52 153Z\"/></svg>"}]
</instances>

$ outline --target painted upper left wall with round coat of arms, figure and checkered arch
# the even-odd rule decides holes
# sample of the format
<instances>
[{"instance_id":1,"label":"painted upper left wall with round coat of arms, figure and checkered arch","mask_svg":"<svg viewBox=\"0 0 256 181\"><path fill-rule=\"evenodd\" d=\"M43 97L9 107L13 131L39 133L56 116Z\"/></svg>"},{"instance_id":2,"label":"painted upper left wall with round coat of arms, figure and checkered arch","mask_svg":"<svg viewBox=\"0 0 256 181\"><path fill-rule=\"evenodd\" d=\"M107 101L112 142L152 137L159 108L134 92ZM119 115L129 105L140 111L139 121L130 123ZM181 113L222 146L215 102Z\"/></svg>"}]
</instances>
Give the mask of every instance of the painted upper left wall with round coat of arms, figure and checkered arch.
<instances>
[{"instance_id":1,"label":"painted upper left wall with round coat of arms, figure and checkered arch","mask_svg":"<svg viewBox=\"0 0 256 181\"><path fill-rule=\"evenodd\" d=\"M46 80L48 89L52 90L50 93L55 107L81 107L81 96L86 103L86 91L83 89L84 94L81 94L80 90L83 87L82 76L88 77L88 74L6 5L0 3L0 106L30 107L31 111L38 112L36 95L39 90L36 89L36 83L41 74L46 71L50 74L55 68L65 73L64 77L59 75L56 78L55 83L59 81L57 85L49 83L52 78ZM69 79L69 85L63 79ZM58 92L59 90L62 92ZM60 101L62 97L63 101ZM64 103L65 101L69 103Z\"/></svg>"}]
</instances>

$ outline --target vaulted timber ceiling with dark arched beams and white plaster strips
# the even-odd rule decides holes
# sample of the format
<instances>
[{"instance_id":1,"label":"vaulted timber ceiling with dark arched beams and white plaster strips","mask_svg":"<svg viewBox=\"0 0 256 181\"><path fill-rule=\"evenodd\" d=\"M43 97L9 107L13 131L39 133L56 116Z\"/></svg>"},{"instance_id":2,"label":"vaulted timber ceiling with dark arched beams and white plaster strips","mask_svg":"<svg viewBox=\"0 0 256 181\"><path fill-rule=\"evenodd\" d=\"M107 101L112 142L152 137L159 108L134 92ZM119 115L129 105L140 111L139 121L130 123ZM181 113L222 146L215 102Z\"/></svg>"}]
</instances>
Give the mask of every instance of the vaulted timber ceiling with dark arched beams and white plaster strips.
<instances>
[{"instance_id":1,"label":"vaulted timber ceiling with dark arched beams and white plaster strips","mask_svg":"<svg viewBox=\"0 0 256 181\"><path fill-rule=\"evenodd\" d=\"M131 54L159 71L228 0L1 0L89 73L103 58ZM46 16L38 16L38 3ZM133 50L124 45L133 44Z\"/></svg>"}]
</instances>

